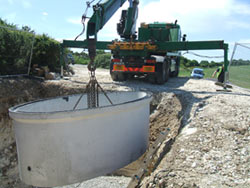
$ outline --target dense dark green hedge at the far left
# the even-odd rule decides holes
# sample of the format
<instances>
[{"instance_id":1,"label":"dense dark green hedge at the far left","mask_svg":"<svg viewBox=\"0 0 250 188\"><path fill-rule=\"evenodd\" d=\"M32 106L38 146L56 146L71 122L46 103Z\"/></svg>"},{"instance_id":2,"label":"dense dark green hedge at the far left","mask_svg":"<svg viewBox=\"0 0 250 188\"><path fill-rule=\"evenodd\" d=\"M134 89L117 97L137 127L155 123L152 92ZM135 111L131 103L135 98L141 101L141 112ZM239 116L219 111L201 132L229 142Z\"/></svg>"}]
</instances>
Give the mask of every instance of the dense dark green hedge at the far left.
<instances>
[{"instance_id":1,"label":"dense dark green hedge at the far left","mask_svg":"<svg viewBox=\"0 0 250 188\"><path fill-rule=\"evenodd\" d=\"M19 29L1 18L0 26L0 75L27 73L33 40L31 63L39 67L48 66L51 71L60 70L59 42L45 34L34 35L34 31L28 26Z\"/></svg>"}]
</instances>

